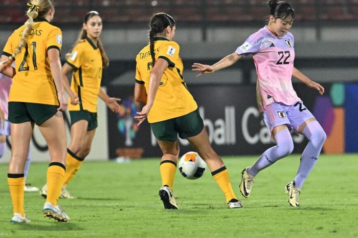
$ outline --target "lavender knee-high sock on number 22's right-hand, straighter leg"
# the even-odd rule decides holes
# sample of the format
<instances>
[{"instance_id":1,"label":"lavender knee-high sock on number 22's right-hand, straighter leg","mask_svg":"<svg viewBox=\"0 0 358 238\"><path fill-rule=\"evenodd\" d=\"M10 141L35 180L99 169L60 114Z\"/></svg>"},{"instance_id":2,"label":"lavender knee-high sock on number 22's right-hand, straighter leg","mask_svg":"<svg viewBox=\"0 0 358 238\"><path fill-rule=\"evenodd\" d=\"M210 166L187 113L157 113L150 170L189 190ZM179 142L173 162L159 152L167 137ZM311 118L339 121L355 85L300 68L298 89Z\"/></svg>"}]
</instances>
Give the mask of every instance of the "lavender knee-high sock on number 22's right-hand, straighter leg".
<instances>
[{"instance_id":1,"label":"lavender knee-high sock on number 22's right-hand, straighter leg","mask_svg":"<svg viewBox=\"0 0 358 238\"><path fill-rule=\"evenodd\" d=\"M326 133L318 121L309 122L303 129L302 134L308 139L308 144L303 150L300 166L294 180L294 185L298 188L302 187L310 171L315 167L326 140Z\"/></svg>"}]
</instances>

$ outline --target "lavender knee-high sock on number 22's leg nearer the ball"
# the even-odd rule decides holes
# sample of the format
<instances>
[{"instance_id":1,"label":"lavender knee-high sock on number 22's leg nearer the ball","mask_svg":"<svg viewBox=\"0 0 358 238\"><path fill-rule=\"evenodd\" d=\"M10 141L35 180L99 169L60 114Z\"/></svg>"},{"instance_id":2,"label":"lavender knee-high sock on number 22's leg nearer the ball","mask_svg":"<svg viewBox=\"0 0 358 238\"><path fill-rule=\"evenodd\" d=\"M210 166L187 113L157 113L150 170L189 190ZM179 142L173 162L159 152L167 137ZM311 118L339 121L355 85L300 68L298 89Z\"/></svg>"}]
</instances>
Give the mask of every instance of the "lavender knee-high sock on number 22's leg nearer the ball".
<instances>
[{"instance_id":1,"label":"lavender knee-high sock on number 22's leg nearer the ball","mask_svg":"<svg viewBox=\"0 0 358 238\"><path fill-rule=\"evenodd\" d=\"M276 146L267 149L248 170L249 174L256 176L259 171L274 164L294 150L294 142L288 130L282 130L274 136Z\"/></svg>"}]
</instances>

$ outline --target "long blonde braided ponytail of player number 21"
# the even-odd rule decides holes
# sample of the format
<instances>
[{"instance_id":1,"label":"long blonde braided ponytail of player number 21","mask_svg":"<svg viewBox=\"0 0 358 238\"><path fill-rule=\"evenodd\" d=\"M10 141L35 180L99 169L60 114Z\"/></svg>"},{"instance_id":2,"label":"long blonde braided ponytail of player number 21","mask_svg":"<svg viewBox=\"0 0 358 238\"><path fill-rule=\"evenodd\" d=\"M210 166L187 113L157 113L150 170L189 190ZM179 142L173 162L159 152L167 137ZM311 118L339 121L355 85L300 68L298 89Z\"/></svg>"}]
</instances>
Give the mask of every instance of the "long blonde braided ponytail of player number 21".
<instances>
[{"instance_id":1,"label":"long blonde braided ponytail of player number 21","mask_svg":"<svg viewBox=\"0 0 358 238\"><path fill-rule=\"evenodd\" d=\"M7 64L8 62L14 60L16 55L21 52L21 49L23 49L26 44L26 37L29 35L30 30L34 26L34 18L45 16L54 7L54 2L53 0L31 0L27 5L29 6L29 9L27 10L26 15L29 17L29 19L24 24L25 29L21 35L21 39L18 42L14 53L10 55L7 60L0 62L1 65Z\"/></svg>"}]
</instances>

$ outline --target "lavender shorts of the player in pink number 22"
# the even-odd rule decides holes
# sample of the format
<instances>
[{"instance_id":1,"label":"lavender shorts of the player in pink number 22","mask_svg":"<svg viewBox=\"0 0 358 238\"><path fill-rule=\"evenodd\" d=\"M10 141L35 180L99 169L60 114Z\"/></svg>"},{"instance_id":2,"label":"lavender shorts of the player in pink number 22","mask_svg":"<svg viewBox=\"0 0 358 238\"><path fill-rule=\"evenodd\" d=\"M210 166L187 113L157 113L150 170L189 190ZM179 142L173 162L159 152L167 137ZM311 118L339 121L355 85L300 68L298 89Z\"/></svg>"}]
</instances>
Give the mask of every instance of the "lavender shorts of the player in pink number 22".
<instances>
[{"instance_id":1,"label":"lavender shorts of the player in pink number 22","mask_svg":"<svg viewBox=\"0 0 358 238\"><path fill-rule=\"evenodd\" d=\"M267 105L263 111L263 121L271 134L274 127L279 125L287 125L289 130L294 129L298 132L300 125L310 118L315 117L309 112L302 101L298 101L290 106L281 102L273 102Z\"/></svg>"}]
</instances>

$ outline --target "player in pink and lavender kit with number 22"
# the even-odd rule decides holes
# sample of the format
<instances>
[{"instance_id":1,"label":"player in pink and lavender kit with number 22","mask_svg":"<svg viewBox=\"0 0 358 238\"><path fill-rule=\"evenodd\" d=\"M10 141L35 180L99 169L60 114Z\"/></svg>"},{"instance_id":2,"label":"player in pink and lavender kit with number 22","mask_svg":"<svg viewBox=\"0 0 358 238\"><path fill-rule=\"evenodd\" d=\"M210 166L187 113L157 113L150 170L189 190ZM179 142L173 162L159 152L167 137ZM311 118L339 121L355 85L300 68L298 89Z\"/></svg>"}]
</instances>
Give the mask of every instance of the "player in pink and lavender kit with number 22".
<instances>
[{"instance_id":1,"label":"player in pink and lavender kit with number 22","mask_svg":"<svg viewBox=\"0 0 358 238\"><path fill-rule=\"evenodd\" d=\"M243 169L240 191L243 197L249 197L258 172L292 153L294 143L290 130L294 129L309 140L301 156L297 175L285 188L289 194L289 205L298 207L302 184L317 162L326 134L297 96L292 86L292 76L321 95L324 88L294 67L295 40L293 34L288 32L294 21L294 9L288 3L276 0L270 0L269 6L271 11L267 26L252 34L234 53L212 66L194 63L193 71L200 71L198 76L213 73L231 66L246 55L253 55L257 71L257 104L276 146L267 149L253 166Z\"/></svg>"}]
</instances>

